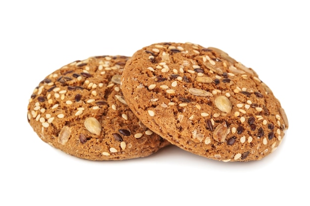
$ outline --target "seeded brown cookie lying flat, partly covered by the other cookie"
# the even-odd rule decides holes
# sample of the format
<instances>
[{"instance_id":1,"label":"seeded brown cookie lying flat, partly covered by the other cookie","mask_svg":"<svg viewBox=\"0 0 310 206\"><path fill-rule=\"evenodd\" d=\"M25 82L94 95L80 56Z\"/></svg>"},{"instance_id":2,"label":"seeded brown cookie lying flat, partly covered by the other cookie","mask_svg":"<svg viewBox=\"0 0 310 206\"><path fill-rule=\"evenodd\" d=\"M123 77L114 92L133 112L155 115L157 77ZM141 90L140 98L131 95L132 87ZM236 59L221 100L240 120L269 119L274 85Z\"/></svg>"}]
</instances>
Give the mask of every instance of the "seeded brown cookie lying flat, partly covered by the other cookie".
<instances>
[{"instance_id":1,"label":"seeded brown cookie lying flat, partly covered by the other cookie","mask_svg":"<svg viewBox=\"0 0 310 206\"><path fill-rule=\"evenodd\" d=\"M44 141L84 159L145 157L169 143L131 112L120 90L126 56L74 61L47 76L28 104L28 122Z\"/></svg>"}]
</instances>

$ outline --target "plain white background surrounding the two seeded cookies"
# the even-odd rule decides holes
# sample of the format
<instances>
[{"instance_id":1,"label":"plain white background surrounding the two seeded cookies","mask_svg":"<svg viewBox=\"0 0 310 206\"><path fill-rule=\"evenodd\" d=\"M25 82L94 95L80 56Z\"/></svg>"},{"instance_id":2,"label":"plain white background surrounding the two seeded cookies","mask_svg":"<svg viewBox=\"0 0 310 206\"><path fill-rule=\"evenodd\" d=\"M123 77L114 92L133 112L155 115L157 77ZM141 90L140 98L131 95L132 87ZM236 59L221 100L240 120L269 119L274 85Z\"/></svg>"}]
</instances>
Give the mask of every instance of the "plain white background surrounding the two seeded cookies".
<instances>
[{"instance_id":1,"label":"plain white background surrounding the two seeded cookies","mask_svg":"<svg viewBox=\"0 0 310 206\"><path fill-rule=\"evenodd\" d=\"M304 3L305 2L305 3ZM10 0L0 2L0 205L310 205L309 6L302 0ZM217 47L255 69L290 127L254 162L218 162L171 146L149 157L88 161L40 140L34 88L93 55L159 42Z\"/></svg>"}]
</instances>

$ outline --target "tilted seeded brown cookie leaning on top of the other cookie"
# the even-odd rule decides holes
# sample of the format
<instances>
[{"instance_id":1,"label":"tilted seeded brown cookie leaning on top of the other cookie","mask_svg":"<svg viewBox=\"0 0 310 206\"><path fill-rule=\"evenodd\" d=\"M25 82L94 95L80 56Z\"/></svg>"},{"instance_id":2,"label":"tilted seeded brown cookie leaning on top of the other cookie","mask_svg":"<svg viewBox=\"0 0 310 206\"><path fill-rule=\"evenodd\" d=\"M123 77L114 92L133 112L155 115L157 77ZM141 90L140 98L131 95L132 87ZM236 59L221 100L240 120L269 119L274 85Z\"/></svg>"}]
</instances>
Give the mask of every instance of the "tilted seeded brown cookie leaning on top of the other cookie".
<instances>
[{"instance_id":1,"label":"tilted seeded brown cookie leaning on top of the other cookie","mask_svg":"<svg viewBox=\"0 0 310 206\"><path fill-rule=\"evenodd\" d=\"M288 128L284 109L257 73L216 48L145 47L127 61L121 89L152 131L211 159L261 159Z\"/></svg>"}]
</instances>

